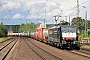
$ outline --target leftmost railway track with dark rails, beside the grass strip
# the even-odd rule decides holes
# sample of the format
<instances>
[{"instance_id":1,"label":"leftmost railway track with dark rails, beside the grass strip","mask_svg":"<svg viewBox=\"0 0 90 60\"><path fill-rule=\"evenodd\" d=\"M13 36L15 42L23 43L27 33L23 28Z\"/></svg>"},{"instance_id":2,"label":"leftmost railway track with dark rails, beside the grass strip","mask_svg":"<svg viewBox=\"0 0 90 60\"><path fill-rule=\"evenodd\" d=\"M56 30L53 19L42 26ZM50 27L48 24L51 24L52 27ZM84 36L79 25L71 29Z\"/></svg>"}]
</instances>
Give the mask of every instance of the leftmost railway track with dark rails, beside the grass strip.
<instances>
[{"instance_id":1,"label":"leftmost railway track with dark rails, beside the grass strip","mask_svg":"<svg viewBox=\"0 0 90 60\"><path fill-rule=\"evenodd\" d=\"M5 60L5 58L8 56L8 54L10 53L10 51L12 50L13 46L16 44L17 41L18 38L12 40L11 42L9 42L0 49L0 60Z\"/></svg>"}]
</instances>

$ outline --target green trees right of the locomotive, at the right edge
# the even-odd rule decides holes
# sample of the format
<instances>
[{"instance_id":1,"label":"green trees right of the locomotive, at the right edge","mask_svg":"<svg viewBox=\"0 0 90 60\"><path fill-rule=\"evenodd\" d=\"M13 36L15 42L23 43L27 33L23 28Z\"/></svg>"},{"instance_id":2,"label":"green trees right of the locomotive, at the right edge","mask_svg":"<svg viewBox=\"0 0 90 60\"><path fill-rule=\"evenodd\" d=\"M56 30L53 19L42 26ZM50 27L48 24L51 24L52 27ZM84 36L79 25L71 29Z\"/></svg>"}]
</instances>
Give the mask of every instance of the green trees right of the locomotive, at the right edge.
<instances>
[{"instance_id":1,"label":"green trees right of the locomotive, at the right edge","mask_svg":"<svg viewBox=\"0 0 90 60\"><path fill-rule=\"evenodd\" d=\"M83 38L90 36L90 20L85 20L85 19L82 19L81 17L78 17L78 18L73 18L71 23L72 25L78 27L80 31L80 35L83 36ZM86 28L86 31L85 31L85 28Z\"/></svg>"}]
</instances>

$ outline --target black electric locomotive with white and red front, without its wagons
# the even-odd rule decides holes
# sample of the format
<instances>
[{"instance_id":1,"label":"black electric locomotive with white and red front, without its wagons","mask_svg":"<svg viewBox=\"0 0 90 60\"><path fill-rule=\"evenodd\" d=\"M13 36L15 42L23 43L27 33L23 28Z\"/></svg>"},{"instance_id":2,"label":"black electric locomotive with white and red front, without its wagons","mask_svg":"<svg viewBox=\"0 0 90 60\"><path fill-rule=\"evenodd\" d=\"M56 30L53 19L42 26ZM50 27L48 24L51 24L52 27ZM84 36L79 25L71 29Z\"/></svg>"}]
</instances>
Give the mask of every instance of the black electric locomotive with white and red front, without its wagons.
<instances>
[{"instance_id":1,"label":"black electric locomotive with white and red front, without its wagons","mask_svg":"<svg viewBox=\"0 0 90 60\"><path fill-rule=\"evenodd\" d=\"M56 47L80 49L76 26L53 26L48 32L48 43Z\"/></svg>"}]
</instances>

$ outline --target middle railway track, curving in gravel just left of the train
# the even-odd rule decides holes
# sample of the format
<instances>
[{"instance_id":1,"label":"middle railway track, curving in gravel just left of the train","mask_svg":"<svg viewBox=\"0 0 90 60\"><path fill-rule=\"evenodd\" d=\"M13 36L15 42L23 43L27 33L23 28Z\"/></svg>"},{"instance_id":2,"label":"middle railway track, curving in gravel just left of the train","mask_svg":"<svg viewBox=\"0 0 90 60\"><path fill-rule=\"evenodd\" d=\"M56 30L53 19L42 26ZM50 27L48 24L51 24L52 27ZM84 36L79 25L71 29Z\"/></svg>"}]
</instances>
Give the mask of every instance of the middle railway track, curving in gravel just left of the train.
<instances>
[{"instance_id":1,"label":"middle railway track, curving in gravel just left of the train","mask_svg":"<svg viewBox=\"0 0 90 60\"><path fill-rule=\"evenodd\" d=\"M55 55L43 50L42 48L36 46L30 40L28 40L28 39L24 39L24 40L27 43L27 45L30 47L30 49L32 49L43 60L62 60L58 56L55 56Z\"/></svg>"}]
</instances>

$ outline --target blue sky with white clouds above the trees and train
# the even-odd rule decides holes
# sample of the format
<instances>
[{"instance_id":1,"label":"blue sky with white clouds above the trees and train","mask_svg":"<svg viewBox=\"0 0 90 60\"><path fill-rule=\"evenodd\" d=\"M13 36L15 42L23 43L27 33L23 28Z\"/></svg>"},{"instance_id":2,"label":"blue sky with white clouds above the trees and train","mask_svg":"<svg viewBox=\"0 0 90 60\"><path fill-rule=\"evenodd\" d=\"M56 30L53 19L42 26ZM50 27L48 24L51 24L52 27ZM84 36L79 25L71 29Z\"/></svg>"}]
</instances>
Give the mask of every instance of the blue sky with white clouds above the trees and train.
<instances>
[{"instance_id":1,"label":"blue sky with white clouds above the trees and train","mask_svg":"<svg viewBox=\"0 0 90 60\"><path fill-rule=\"evenodd\" d=\"M90 20L90 0L79 1L79 16ZM0 22L4 25L16 25L22 23L55 24L54 16L60 16L61 20L69 22L77 16L77 0L0 0ZM67 17L66 17L67 16Z\"/></svg>"}]
</instances>

